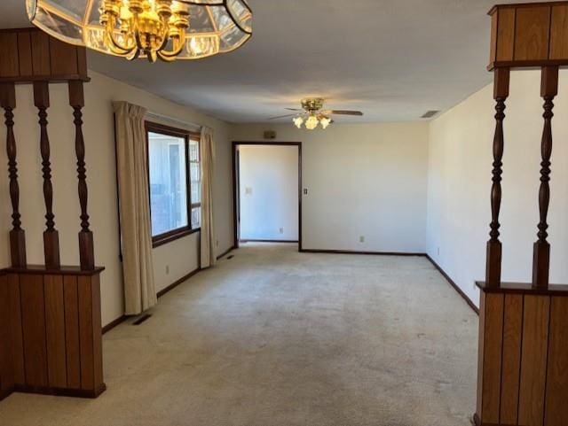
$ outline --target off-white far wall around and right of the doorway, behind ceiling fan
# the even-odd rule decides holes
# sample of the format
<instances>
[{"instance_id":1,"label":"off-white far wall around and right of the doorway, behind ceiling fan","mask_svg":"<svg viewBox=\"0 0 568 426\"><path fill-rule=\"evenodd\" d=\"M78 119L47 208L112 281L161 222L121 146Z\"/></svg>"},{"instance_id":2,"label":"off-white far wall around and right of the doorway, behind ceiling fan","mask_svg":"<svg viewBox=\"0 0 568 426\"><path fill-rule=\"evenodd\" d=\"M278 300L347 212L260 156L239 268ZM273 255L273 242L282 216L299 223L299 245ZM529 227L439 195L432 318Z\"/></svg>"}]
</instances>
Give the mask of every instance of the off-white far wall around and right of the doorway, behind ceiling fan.
<instances>
[{"instance_id":1,"label":"off-white far wall around and right of the doorway, behind ceiling fan","mask_svg":"<svg viewBox=\"0 0 568 426\"><path fill-rule=\"evenodd\" d=\"M233 139L264 130L303 143L304 249L425 252L428 123L236 125Z\"/></svg>"}]
</instances>

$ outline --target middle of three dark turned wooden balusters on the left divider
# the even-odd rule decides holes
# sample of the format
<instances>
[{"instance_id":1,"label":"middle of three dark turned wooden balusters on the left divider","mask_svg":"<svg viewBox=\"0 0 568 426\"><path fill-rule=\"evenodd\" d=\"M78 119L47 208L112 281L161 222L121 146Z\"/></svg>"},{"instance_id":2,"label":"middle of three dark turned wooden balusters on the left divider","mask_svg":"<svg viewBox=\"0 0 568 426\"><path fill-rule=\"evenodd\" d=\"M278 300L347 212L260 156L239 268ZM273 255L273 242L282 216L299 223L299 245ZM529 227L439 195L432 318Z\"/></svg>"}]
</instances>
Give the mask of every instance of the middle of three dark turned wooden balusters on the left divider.
<instances>
[{"instance_id":1,"label":"middle of three dark turned wooden balusters on the left divider","mask_svg":"<svg viewBox=\"0 0 568 426\"><path fill-rule=\"evenodd\" d=\"M40 151L42 153L43 198L45 200L45 231L43 254L45 267L57 269L59 262L59 232L55 228L53 214L53 186L51 185L50 139L47 133L47 108L50 106L50 89L47 81L34 82L34 104L40 125Z\"/></svg>"}]
</instances>

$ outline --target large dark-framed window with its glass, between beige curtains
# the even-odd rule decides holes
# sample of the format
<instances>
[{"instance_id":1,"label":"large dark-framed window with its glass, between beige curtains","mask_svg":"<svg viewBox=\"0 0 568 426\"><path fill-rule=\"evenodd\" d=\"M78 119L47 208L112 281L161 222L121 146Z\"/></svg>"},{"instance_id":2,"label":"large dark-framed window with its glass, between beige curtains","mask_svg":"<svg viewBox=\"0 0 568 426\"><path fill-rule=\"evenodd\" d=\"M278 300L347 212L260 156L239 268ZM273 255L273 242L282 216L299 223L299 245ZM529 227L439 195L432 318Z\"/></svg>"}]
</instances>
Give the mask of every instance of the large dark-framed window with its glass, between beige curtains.
<instances>
[{"instance_id":1,"label":"large dark-framed window with its glass, between beige curtains","mask_svg":"<svg viewBox=\"0 0 568 426\"><path fill-rule=\"evenodd\" d=\"M197 134L146 122L154 247L201 227L201 152Z\"/></svg>"}]
</instances>

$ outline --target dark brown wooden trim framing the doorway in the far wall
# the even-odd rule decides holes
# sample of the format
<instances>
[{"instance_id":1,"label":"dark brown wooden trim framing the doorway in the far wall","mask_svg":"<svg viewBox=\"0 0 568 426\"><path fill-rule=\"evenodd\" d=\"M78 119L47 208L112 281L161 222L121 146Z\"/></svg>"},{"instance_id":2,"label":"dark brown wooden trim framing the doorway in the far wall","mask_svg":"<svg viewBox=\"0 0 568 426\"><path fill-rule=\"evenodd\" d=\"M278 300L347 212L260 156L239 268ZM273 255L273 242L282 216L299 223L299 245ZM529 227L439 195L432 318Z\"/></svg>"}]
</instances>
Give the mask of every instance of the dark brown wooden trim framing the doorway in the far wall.
<instances>
[{"instance_id":1,"label":"dark brown wooden trim framing the doorway in the far wall","mask_svg":"<svg viewBox=\"0 0 568 426\"><path fill-rule=\"evenodd\" d=\"M301 142L247 142L233 141L233 246L239 248L239 165L237 164L237 148L239 145L297 146L298 148L298 252L302 252L302 143Z\"/></svg>"}]
</instances>

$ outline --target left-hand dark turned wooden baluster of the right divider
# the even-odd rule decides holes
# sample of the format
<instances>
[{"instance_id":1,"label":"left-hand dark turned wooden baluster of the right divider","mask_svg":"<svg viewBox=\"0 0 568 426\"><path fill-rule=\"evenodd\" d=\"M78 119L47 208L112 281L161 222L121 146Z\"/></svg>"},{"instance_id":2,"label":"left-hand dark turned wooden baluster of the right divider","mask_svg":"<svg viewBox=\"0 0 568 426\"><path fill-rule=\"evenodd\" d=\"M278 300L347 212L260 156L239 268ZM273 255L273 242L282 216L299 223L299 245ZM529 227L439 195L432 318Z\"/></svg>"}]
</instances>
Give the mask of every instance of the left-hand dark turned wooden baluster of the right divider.
<instances>
[{"instance_id":1,"label":"left-hand dark turned wooden baluster of the right divider","mask_svg":"<svg viewBox=\"0 0 568 426\"><path fill-rule=\"evenodd\" d=\"M501 254L499 240L499 213L501 212L501 174L504 149L503 120L505 120L505 100L509 97L509 68L497 68L494 72L493 98L495 105L495 136L493 137L493 187L491 190L491 239L487 242L485 282L487 286L501 286Z\"/></svg>"}]
</instances>

